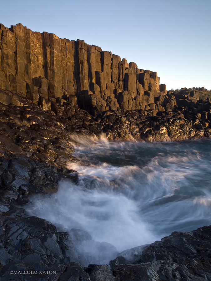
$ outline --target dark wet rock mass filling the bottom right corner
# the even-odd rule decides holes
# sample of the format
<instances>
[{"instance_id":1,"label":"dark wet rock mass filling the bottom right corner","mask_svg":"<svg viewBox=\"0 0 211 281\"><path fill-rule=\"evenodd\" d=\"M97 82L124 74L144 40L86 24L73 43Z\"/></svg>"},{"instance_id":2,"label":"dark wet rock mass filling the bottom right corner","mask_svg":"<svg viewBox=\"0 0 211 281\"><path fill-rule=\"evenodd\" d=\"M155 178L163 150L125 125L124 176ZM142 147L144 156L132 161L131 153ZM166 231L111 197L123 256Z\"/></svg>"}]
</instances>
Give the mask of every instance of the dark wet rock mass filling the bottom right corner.
<instances>
[{"instance_id":1,"label":"dark wet rock mass filling the bottom right corner","mask_svg":"<svg viewBox=\"0 0 211 281\"><path fill-rule=\"evenodd\" d=\"M173 232L146 246L141 258L133 264L116 265L113 274L121 281L211 280L210 253L211 226L191 232Z\"/></svg>"}]
</instances>

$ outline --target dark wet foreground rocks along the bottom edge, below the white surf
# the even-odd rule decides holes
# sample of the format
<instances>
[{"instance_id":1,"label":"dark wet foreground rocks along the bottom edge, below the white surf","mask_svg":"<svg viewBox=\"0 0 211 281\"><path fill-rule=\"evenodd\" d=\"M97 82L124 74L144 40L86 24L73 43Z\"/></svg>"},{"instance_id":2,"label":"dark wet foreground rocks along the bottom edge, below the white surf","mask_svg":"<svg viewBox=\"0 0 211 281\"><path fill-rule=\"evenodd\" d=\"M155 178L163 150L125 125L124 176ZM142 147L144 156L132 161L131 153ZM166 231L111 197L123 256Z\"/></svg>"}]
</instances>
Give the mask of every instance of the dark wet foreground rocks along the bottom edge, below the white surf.
<instances>
[{"instance_id":1,"label":"dark wet foreground rocks along the bottom edge, below the white surf","mask_svg":"<svg viewBox=\"0 0 211 281\"><path fill-rule=\"evenodd\" d=\"M67 233L58 232L44 219L29 217L21 208L8 207L0 206L1 280L20 278L10 274L19 270L54 270L53 277L60 280L211 280L211 226L188 233L173 232L145 246L133 264L118 257L121 264L110 262L113 269L96 264L83 269ZM27 280L24 276L21 280ZM47 276L39 278L47 280Z\"/></svg>"}]
</instances>

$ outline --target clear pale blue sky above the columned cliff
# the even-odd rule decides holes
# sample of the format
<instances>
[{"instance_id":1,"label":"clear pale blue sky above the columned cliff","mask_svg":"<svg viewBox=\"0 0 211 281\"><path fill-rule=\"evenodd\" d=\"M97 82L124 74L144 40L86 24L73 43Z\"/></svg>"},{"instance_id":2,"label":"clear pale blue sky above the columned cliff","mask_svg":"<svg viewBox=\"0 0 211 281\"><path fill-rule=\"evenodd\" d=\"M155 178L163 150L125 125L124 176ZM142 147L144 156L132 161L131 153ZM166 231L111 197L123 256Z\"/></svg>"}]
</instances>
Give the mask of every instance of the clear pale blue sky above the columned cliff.
<instances>
[{"instance_id":1,"label":"clear pale blue sky above the columned cliff","mask_svg":"<svg viewBox=\"0 0 211 281\"><path fill-rule=\"evenodd\" d=\"M81 39L156 71L167 89L211 89L211 0L11 0L0 22Z\"/></svg>"}]
</instances>

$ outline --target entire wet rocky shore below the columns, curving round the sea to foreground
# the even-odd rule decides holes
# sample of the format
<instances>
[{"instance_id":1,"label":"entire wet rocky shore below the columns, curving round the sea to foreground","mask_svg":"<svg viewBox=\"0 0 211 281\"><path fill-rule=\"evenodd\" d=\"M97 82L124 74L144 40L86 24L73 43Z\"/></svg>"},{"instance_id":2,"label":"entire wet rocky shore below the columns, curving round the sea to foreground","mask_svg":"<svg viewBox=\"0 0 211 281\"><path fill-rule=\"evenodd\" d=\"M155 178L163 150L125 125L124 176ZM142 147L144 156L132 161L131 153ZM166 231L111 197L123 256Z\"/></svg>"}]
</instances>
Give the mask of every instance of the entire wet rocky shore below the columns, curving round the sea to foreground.
<instances>
[{"instance_id":1,"label":"entire wet rocky shore below the columns, curving round the sea to foreground","mask_svg":"<svg viewBox=\"0 0 211 281\"><path fill-rule=\"evenodd\" d=\"M121 140L141 135L147 141L200 138L209 136L209 127L202 127L202 119L201 129L197 129L189 127L187 111L184 114L178 109L168 112L172 117L166 111L153 117L138 111L106 111L91 116L78 107L71 109L69 118L60 103L56 106L63 114L43 111L42 106L20 96L17 99L18 106L1 105L1 280L211 280L210 226L190 233L174 232L162 241L120 256L113 249L118 257L110 265L96 265L90 264L93 257L78 251L73 236L59 232L44 219L30 217L22 208L33 194L57 192L59 180L77 183L77 172L66 168L67 161L78 161L69 142L76 134L100 136L104 132L108 138ZM210 106L208 100L194 105ZM140 129L137 124L142 125ZM195 132L193 136L191 131ZM175 135L170 137L172 132ZM79 230L75 235L80 243L91 239ZM111 247L100 244L102 253ZM21 270L56 274L10 274Z\"/></svg>"}]
</instances>

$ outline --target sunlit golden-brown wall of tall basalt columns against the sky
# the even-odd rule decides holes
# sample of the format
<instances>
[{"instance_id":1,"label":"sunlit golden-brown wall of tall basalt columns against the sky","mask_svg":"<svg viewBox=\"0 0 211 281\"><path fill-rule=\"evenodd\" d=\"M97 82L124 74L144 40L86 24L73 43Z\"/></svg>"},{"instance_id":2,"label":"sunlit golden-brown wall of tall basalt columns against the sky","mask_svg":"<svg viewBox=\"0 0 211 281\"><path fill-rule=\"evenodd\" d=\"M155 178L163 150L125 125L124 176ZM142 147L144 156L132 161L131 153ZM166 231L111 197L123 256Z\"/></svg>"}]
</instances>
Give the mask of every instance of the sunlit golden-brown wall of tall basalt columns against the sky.
<instances>
[{"instance_id":1,"label":"sunlit golden-brown wall of tall basalt columns against the sky","mask_svg":"<svg viewBox=\"0 0 211 281\"><path fill-rule=\"evenodd\" d=\"M28 97L77 98L89 113L105 110L161 109L155 98L166 94L156 72L138 69L117 55L83 40L60 39L48 32L32 32L22 24L0 24L0 89ZM4 103L13 101L10 93ZM6 101L7 100L7 101Z\"/></svg>"}]
</instances>

